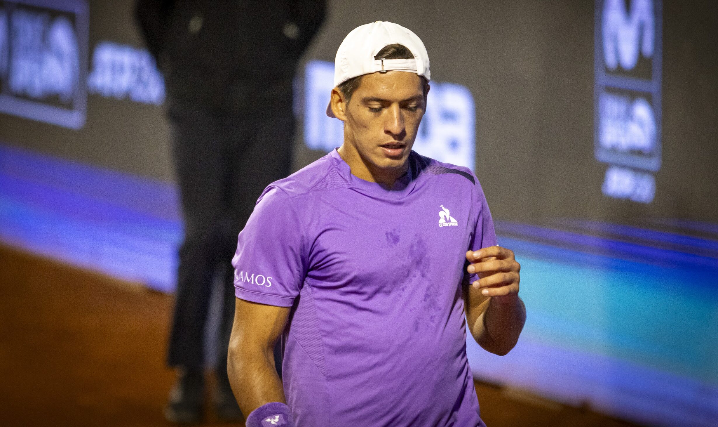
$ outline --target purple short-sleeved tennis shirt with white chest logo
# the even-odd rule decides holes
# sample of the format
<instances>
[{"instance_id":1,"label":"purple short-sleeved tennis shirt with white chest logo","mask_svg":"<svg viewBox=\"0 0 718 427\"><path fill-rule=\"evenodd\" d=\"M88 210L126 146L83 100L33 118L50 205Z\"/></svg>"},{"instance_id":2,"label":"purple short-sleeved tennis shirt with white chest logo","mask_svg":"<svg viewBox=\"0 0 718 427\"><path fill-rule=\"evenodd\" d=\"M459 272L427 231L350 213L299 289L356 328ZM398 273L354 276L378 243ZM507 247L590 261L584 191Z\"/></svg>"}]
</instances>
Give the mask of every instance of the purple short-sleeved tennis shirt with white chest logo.
<instances>
[{"instance_id":1,"label":"purple short-sleeved tennis shirt with white chest logo","mask_svg":"<svg viewBox=\"0 0 718 427\"><path fill-rule=\"evenodd\" d=\"M292 307L297 427L484 426L466 357L465 254L496 244L475 175L411 152L391 190L335 150L264 190L239 234L237 298Z\"/></svg>"}]
</instances>

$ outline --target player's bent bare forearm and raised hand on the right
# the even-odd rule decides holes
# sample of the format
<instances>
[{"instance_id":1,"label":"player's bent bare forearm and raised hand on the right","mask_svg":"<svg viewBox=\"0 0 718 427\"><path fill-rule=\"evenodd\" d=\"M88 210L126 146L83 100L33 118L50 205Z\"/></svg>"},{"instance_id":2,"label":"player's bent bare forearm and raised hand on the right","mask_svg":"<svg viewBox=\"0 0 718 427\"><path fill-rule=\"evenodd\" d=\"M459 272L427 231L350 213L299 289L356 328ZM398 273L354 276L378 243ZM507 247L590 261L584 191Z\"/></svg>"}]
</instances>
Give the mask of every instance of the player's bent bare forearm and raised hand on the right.
<instances>
[{"instance_id":1,"label":"player's bent bare forearm and raised hand on the right","mask_svg":"<svg viewBox=\"0 0 718 427\"><path fill-rule=\"evenodd\" d=\"M503 356L513 349L526 322L526 306L518 298L521 265L513 251L499 246L466 253L467 272L479 280L464 285L469 329L487 352Z\"/></svg>"}]
</instances>

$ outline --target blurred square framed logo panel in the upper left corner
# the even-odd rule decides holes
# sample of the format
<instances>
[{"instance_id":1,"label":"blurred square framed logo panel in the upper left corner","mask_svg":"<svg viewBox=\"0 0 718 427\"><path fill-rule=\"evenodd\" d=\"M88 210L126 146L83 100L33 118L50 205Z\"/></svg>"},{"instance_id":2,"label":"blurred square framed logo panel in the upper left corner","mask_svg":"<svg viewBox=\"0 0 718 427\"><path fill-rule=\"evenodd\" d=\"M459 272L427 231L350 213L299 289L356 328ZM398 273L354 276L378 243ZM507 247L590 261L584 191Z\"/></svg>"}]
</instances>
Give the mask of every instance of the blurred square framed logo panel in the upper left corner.
<instances>
[{"instance_id":1,"label":"blurred square framed logo panel in the upper left corner","mask_svg":"<svg viewBox=\"0 0 718 427\"><path fill-rule=\"evenodd\" d=\"M85 1L1 1L0 111L83 127L87 54Z\"/></svg>"}]
</instances>

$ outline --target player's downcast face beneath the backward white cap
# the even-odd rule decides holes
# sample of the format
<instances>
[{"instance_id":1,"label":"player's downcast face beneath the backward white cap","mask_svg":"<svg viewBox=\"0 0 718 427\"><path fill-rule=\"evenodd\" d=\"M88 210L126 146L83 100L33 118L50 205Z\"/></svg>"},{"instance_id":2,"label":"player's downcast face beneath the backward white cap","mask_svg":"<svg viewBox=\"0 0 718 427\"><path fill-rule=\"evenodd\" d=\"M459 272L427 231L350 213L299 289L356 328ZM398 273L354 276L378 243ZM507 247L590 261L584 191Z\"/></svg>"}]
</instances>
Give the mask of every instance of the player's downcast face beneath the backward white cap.
<instances>
[{"instance_id":1,"label":"player's downcast face beneath the backward white cap","mask_svg":"<svg viewBox=\"0 0 718 427\"><path fill-rule=\"evenodd\" d=\"M426 110L428 90L415 73L363 75L345 104L345 140L375 167L403 167Z\"/></svg>"}]
</instances>

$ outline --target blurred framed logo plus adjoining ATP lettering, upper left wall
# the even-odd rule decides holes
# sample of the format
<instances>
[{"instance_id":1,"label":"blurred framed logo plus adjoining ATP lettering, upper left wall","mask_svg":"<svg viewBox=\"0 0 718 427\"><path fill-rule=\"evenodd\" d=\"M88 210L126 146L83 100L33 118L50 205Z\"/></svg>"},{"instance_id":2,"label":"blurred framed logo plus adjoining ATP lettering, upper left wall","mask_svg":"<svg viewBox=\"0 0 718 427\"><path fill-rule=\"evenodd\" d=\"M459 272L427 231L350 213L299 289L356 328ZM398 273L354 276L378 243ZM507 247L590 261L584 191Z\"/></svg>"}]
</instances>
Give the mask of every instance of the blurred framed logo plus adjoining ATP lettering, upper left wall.
<instances>
[{"instance_id":1,"label":"blurred framed logo plus adjoining ATP lettering, upper left wall","mask_svg":"<svg viewBox=\"0 0 718 427\"><path fill-rule=\"evenodd\" d=\"M82 129L88 92L162 104L164 79L146 49L98 42L90 68L88 15L85 0L0 1L1 112Z\"/></svg>"}]
</instances>

